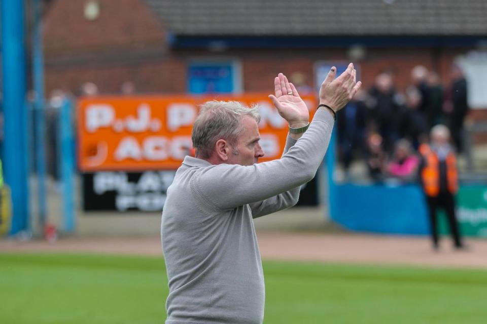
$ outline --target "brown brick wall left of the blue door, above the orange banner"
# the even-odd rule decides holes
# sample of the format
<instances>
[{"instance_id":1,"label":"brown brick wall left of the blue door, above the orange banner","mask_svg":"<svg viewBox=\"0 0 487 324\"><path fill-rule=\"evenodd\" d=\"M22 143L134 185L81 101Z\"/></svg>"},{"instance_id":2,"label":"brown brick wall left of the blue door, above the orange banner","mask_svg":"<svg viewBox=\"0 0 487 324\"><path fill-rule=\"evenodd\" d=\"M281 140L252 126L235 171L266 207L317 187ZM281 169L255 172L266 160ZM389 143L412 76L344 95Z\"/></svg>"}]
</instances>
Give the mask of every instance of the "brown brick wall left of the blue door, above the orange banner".
<instances>
[{"instance_id":1,"label":"brown brick wall left of the blue door, above the orange banner","mask_svg":"<svg viewBox=\"0 0 487 324\"><path fill-rule=\"evenodd\" d=\"M86 82L101 93L118 93L129 80L143 92L184 88L184 66L168 54L165 28L143 0L98 0L93 21L85 3L56 0L45 16L46 95L76 95Z\"/></svg>"}]
</instances>

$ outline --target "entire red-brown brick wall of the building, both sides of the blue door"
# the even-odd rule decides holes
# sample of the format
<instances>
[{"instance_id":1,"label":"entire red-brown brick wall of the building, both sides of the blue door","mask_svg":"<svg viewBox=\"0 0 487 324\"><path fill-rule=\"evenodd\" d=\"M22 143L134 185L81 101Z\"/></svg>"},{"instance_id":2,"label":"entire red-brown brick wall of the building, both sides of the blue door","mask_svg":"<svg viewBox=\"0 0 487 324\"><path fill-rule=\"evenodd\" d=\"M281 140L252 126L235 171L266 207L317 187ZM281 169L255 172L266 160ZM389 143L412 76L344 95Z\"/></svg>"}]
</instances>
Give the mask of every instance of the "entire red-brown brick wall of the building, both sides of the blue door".
<instances>
[{"instance_id":1,"label":"entire red-brown brick wall of the building, both sides of the blue door","mask_svg":"<svg viewBox=\"0 0 487 324\"><path fill-rule=\"evenodd\" d=\"M143 0L98 0L100 15L94 21L83 15L85 1L56 0L45 19L46 91L63 89L78 94L86 82L100 93L118 93L131 81L141 93L186 92L186 66L193 58L235 58L242 68L243 91L271 92L273 77L284 72L304 75L314 86L318 61L348 61L347 49L171 50L163 23ZM396 87L410 84L410 71L418 64L439 72L449 82L449 67L469 49L367 49L360 66L364 88L375 76L391 71ZM479 115L480 116L480 115ZM483 116L483 115L482 115Z\"/></svg>"}]
</instances>

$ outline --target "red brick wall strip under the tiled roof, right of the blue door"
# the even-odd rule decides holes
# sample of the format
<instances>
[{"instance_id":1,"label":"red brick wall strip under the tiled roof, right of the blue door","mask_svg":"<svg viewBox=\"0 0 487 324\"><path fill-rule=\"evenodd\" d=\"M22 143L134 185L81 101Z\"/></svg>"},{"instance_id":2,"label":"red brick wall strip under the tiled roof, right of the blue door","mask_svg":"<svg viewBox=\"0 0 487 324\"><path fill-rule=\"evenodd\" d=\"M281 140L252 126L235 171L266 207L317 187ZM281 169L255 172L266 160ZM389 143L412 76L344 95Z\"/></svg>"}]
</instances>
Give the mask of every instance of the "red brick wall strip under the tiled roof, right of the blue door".
<instances>
[{"instance_id":1,"label":"red brick wall strip under the tiled roof, right of the blue door","mask_svg":"<svg viewBox=\"0 0 487 324\"><path fill-rule=\"evenodd\" d=\"M416 65L436 70L444 84L450 82L449 70L456 56L469 49L445 49L436 54L431 49L367 49L366 57L354 62L360 68L360 78L365 88L373 86L377 74L390 71L398 90L404 91L411 84L410 72ZM242 50L213 54L213 57L235 58L241 62L242 83L245 91L272 90L273 77L283 72L305 75L309 86L314 84L314 67L319 61L349 62L347 49L302 50ZM200 52L202 57L208 53ZM175 53L175 55L177 55ZM185 53L180 53L185 56ZM269 84L270 82L270 84ZM269 90L270 89L270 90Z\"/></svg>"}]
</instances>

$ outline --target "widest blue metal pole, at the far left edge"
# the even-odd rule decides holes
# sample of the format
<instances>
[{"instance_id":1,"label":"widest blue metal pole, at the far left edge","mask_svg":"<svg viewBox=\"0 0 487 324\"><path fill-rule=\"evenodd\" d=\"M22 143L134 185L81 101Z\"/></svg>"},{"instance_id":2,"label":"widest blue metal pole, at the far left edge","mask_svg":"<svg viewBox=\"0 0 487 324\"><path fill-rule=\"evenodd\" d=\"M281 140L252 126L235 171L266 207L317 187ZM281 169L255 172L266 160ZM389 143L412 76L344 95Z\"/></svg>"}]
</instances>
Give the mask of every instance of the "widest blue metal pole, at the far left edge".
<instances>
[{"instance_id":1,"label":"widest blue metal pole, at the far left edge","mask_svg":"<svg viewBox=\"0 0 487 324\"><path fill-rule=\"evenodd\" d=\"M4 174L12 193L11 234L28 229L24 2L2 1Z\"/></svg>"}]
</instances>

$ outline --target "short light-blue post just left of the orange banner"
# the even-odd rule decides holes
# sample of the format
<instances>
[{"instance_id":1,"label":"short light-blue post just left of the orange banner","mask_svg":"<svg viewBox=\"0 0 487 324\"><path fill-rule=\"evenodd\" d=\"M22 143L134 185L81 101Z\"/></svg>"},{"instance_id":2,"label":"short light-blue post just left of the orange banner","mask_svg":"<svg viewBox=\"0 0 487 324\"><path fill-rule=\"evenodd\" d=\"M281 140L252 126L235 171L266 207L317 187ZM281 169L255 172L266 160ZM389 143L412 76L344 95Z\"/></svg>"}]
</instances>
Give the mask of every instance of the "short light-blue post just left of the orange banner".
<instances>
[{"instance_id":1,"label":"short light-blue post just left of the orange banner","mask_svg":"<svg viewBox=\"0 0 487 324\"><path fill-rule=\"evenodd\" d=\"M59 111L59 150L58 161L61 169L62 210L64 218L64 231L73 232L76 227L75 203L73 196L75 175L75 151L73 135L72 110L73 102L64 99Z\"/></svg>"}]
</instances>

